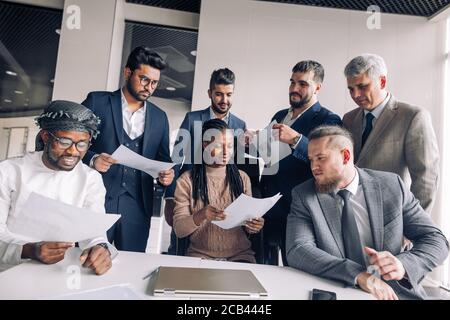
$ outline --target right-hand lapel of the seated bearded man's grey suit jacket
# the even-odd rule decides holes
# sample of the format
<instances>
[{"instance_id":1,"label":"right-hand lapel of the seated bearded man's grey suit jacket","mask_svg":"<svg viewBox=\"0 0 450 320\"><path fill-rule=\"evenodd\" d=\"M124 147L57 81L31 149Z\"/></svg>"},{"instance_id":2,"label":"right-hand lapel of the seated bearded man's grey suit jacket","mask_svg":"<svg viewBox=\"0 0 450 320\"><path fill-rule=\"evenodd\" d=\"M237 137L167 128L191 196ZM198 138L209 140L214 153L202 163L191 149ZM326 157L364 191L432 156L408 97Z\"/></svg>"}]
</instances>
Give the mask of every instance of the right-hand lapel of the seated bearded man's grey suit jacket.
<instances>
[{"instance_id":1,"label":"right-hand lapel of the seated bearded man's grey suit jacket","mask_svg":"<svg viewBox=\"0 0 450 320\"><path fill-rule=\"evenodd\" d=\"M380 184L371 179L367 174L357 169L359 173L359 184L362 185L364 191L364 198L366 199L367 211L370 220L370 229L372 230L372 238L375 250L383 250L383 234L384 234L384 219L383 219L383 199L381 196Z\"/></svg>"}]
</instances>

